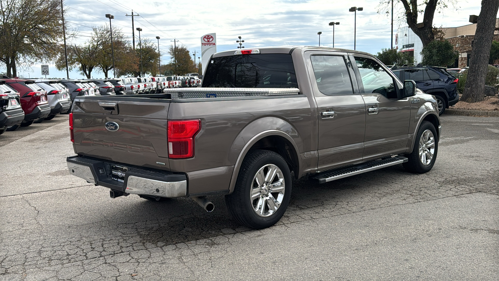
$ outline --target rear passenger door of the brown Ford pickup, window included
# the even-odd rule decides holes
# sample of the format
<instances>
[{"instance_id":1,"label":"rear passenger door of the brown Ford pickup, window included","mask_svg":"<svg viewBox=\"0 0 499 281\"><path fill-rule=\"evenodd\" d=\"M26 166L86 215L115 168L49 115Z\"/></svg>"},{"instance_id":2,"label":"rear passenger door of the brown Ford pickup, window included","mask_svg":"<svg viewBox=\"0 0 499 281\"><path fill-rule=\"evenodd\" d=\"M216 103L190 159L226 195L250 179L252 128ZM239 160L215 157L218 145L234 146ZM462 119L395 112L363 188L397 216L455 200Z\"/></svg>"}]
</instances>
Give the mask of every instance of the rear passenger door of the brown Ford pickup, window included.
<instances>
[{"instance_id":1,"label":"rear passenger door of the brown Ford pickup, window included","mask_svg":"<svg viewBox=\"0 0 499 281\"><path fill-rule=\"evenodd\" d=\"M366 109L347 61L336 52L307 57L318 112L319 171L362 161Z\"/></svg>"}]
</instances>

